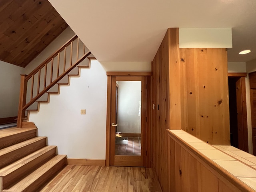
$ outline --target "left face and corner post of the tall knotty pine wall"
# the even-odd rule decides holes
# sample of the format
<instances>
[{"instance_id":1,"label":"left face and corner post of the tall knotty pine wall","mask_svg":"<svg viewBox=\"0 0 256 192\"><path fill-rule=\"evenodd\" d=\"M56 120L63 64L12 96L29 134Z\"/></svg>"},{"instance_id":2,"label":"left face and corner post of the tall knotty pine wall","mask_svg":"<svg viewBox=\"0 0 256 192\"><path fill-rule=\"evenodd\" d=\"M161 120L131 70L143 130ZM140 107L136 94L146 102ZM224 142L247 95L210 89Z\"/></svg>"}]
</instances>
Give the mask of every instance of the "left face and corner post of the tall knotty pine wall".
<instances>
[{"instance_id":1,"label":"left face and corner post of the tall knotty pine wall","mask_svg":"<svg viewBox=\"0 0 256 192\"><path fill-rule=\"evenodd\" d=\"M168 29L152 62L152 167L162 188L167 177L166 129L181 126L178 39L178 28Z\"/></svg>"}]
</instances>

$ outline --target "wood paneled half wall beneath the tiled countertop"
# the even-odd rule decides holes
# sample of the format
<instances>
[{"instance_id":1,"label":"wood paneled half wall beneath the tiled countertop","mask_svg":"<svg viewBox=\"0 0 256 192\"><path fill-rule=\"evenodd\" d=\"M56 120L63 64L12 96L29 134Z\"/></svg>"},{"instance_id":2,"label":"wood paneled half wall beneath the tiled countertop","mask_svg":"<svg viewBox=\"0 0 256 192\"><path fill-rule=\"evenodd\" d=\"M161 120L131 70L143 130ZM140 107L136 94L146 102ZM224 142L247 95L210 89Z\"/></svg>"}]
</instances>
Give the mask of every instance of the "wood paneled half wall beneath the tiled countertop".
<instances>
[{"instance_id":1,"label":"wood paneled half wall beneath the tiled countertop","mask_svg":"<svg viewBox=\"0 0 256 192\"><path fill-rule=\"evenodd\" d=\"M170 132L164 192L249 192L252 188L200 155Z\"/></svg>"}]
</instances>

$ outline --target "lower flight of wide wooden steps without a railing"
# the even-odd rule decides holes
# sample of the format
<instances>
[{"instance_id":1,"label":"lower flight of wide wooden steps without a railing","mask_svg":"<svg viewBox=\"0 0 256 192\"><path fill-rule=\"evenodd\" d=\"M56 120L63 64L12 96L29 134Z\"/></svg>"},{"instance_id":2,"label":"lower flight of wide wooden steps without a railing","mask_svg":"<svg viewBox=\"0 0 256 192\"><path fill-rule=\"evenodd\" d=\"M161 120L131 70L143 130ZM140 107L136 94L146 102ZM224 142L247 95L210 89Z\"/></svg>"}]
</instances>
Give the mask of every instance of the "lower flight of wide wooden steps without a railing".
<instances>
[{"instance_id":1,"label":"lower flight of wide wooden steps without a railing","mask_svg":"<svg viewBox=\"0 0 256 192\"><path fill-rule=\"evenodd\" d=\"M0 192L36 192L66 164L37 128L0 130Z\"/></svg>"}]
</instances>

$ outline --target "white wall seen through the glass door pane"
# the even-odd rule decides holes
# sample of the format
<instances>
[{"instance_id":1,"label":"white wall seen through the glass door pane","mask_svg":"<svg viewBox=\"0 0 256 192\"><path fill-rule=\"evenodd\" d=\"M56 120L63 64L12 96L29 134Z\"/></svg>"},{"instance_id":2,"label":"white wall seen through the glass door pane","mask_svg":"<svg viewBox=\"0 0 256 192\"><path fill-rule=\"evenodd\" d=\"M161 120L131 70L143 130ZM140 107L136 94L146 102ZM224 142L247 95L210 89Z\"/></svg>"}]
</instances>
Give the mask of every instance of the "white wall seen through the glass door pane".
<instances>
[{"instance_id":1,"label":"white wall seen through the glass door pane","mask_svg":"<svg viewBox=\"0 0 256 192\"><path fill-rule=\"evenodd\" d=\"M118 132L141 133L141 81L119 81L118 86Z\"/></svg>"}]
</instances>

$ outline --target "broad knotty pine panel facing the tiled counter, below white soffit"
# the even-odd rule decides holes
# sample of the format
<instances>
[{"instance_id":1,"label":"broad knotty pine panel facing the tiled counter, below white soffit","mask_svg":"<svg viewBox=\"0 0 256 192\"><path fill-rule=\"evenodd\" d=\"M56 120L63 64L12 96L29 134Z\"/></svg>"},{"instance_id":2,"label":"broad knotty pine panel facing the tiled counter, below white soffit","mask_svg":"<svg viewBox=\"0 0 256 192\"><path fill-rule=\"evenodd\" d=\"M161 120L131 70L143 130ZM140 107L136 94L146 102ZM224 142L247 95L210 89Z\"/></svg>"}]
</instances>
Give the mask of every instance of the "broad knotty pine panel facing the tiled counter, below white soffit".
<instances>
[{"instance_id":1,"label":"broad knotty pine panel facing the tiled counter, below white soffit","mask_svg":"<svg viewBox=\"0 0 256 192\"><path fill-rule=\"evenodd\" d=\"M180 61L182 129L210 144L230 144L226 49L181 48Z\"/></svg>"}]
</instances>

